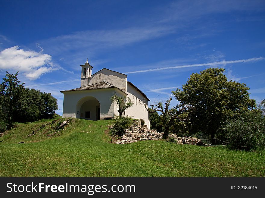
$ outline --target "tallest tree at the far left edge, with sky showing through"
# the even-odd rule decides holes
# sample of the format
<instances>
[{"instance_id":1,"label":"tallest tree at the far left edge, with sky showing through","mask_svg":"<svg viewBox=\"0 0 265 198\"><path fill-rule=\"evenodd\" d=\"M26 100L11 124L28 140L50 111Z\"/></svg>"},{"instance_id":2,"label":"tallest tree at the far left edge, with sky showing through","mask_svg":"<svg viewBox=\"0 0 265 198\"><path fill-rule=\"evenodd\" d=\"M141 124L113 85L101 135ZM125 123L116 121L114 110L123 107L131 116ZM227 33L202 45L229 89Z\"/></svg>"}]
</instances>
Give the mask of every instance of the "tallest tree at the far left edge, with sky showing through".
<instances>
[{"instance_id":1,"label":"tallest tree at the far left edge, with sky showing through","mask_svg":"<svg viewBox=\"0 0 265 198\"><path fill-rule=\"evenodd\" d=\"M5 115L8 128L11 127L16 112L21 110L23 104L23 84L17 79L18 72L16 74L9 74L6 72L0 86L0 99L2 114Z\"/></svg>"}]
</instances>

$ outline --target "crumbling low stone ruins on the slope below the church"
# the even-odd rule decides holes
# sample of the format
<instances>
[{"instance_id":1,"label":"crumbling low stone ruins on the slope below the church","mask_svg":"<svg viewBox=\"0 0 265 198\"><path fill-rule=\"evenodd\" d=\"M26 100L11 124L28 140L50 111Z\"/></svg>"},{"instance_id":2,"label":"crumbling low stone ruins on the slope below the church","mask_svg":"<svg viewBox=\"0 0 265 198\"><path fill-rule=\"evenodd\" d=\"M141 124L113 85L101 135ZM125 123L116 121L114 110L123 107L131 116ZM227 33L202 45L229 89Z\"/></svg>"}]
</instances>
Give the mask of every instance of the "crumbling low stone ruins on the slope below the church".
<instances>
[{"instance_id":1,"label":"crumbling low stone ruins on the slope below the church","mask_svg":"<svg viewBox=\"0 0 265 198\"><path fill-rule=\"evenodd\" d=\"M163 134L155 129L148 130L147 125L141 127L141 121L134 120L133 125L129 129L126 129L126 133L116 143L127 144L142 140L159 140L163 138ZM178 137L176 134L169 134L169 137L173 137L178 144L205 145L196 137Z\"/></svg>"}]
</instances>

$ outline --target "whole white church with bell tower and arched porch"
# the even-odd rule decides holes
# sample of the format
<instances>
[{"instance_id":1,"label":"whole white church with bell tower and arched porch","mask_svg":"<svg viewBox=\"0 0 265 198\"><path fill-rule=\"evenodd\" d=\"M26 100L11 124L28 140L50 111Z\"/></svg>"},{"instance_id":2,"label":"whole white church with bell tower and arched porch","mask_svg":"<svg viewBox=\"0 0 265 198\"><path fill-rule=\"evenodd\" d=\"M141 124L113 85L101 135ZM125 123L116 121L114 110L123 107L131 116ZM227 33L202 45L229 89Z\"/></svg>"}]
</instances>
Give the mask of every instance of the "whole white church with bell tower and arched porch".
<instances>
[{"instance_id":1,"label":"whole white church with bell tower and arched porch","mask_svg":"<svg viewBox=\"0 0 265 198\"><path fill-rule=\"evenodd\" d=\"M148 101L146 95L133 83L127 81L127 75L103 68L92 74L92 66L81 65L81 86L61 91L64 94L63 118L81 118L87 120L113 119L119 115L118 108L111 102L111 96L126 96L133 101L125 115L143 119L149 129ZM145 105L146 108L145 108Z\"/></svg>"}]
</instances>

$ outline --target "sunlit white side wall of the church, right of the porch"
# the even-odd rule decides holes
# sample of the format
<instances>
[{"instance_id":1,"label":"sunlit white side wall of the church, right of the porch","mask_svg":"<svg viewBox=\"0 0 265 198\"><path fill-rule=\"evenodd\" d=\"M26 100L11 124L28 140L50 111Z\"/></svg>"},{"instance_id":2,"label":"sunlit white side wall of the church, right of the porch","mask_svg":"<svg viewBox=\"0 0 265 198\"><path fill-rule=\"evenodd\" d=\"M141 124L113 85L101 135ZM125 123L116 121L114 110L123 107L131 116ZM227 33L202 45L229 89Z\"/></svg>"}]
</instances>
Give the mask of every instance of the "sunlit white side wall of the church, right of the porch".
<instances>
[{"instance_id":1,"label":"sunlit white side wall of the church, right of the porch","mask_svg":"<svg viewBox=\"0 0 265 198\"><path fill-rule=\"evenodd\" d=\"M148 111L145 109L143 102L147 105L148 101L144 98L144 96L139 93L133 86L127 83L127 92L128 97L133 101L133 106L128 108L125 112L126 115L133 116L133 118L143 119L148 129L150 129L150 122L148 119ZM137 97L137 105L136 105L136 97Z\"/></svg>"}]
</instances>

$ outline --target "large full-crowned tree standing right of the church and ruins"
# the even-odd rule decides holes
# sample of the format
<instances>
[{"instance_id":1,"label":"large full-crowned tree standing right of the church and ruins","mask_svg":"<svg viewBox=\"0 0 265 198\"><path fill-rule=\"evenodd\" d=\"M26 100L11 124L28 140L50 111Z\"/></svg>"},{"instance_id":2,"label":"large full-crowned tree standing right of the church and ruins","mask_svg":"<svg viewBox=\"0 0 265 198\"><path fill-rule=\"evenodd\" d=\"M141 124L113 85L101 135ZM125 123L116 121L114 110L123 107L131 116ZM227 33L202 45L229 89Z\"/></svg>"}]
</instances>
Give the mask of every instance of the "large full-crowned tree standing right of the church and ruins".
<instances>
[{"instance_id":1,"label":"large full-crowned tree standing right of the church and ruins","mask_svg":"<svg viewBox=\"0 0 265 198\"><path fill-rule=\"evenodd\" d=\"M256 106L255 100L249 99L246 84L227 81L223 72L223 68L208 68L192 74L182 90L172 92L180 104L195 108L189 116L193 130L210 134L212 145L216 144L215 134L228 118Z\"/></svg>"}]
</instances>

